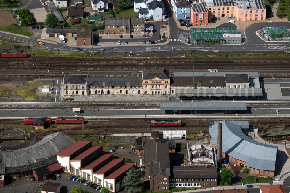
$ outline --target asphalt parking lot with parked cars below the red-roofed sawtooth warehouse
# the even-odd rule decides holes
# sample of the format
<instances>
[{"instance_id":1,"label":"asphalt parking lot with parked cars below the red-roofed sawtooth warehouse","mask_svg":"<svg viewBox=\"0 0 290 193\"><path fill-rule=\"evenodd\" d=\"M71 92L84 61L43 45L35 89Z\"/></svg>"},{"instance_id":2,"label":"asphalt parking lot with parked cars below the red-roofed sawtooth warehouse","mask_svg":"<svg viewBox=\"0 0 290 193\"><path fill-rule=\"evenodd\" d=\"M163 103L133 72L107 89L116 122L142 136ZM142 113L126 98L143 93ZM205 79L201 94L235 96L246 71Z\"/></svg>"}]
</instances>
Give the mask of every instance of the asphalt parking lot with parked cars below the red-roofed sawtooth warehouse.
<instances>
[{"instance_id":1,"label":"asphalt parking lot with parked cars below the red-roofed sawtooth warehouse","mask_svg":"<svg viewBox=\"0 0 290 193\"><path fill-rule=\"evenodd\" d=\"M83 190L88 190L90 192L99 192L97 190L93 190L92 187L85 186L84 185L85 182L84 183L78 183L78 182L69 180L68 176L70 176L70 175L67 174L67 173L62 173L60 175L61 175L61 178L59 178L59 179L56 179L56 180L49 179L49 180L46 180L46 181L43 181L43 182L39 182L39 183L37 181L31 181L29 179L29 177L19 178L19 179L16 179L12 183L13 185L6 185L6 186L3 186L3 187L0 187L0 192L1 193L11 193L11 192L17 192L17 193L28 192L28 193L31 193L31 192L35 192L36 188L39 185L44 185L46 182L61 183L62 184L62 193L70 192L74 185L79 185L79 186L81 186L81 188Z\"/></svg>"}]
</instances>

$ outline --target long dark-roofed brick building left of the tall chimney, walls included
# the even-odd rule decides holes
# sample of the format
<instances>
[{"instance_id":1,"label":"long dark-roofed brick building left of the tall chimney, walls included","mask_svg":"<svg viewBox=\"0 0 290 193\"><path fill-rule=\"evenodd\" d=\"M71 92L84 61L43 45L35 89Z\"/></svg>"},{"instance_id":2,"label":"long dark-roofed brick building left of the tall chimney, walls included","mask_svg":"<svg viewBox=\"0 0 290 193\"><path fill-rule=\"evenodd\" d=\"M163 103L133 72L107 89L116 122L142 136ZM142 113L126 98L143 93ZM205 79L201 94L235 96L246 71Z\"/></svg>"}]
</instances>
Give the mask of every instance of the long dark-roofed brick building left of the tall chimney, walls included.
<instances>
[{"instance_id":1,"label":"long dark-roofed brick building left of the tall chimney, walls included","mask_svg":"<svg viewBox=\"0 0 290 193\"><path fill-rule=\"evenodd\" d=\"M170 177L169 144L146 143L145 155L145 179L150 181L151 191L168 191Z\"/></svg>"}]
</instances>

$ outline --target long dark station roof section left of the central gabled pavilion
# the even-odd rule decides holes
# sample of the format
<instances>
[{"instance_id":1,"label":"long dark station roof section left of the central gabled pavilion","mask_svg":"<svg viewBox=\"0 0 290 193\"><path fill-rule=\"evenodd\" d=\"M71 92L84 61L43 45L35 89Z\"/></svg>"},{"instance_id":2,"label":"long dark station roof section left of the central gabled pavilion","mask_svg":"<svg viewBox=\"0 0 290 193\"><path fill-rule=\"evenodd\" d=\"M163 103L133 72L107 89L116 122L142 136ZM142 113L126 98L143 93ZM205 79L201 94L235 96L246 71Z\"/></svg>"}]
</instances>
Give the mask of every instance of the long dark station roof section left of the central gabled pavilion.
<instances>
[{"instance_id":1,"label":"long dark station roof section left of the central gabled pavilion","mask_svg":"<svg viewBox=\"0 0 290 193\"><path fill-rule=\"evenodd\" d=\"M88 85L92 86L141 86L142 77L90 77Z\"/></svg>"}]
</instances>

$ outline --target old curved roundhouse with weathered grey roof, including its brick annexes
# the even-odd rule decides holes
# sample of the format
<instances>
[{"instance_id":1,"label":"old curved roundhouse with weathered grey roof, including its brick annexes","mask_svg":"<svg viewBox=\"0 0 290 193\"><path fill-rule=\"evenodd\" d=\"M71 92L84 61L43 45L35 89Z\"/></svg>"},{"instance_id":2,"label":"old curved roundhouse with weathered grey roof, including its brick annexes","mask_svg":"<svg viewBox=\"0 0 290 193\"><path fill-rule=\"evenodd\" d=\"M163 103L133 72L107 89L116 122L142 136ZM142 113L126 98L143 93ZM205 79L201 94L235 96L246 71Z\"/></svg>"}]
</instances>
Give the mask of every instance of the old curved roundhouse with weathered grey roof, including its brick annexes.
<instances>
[{"instance_id":1,"label":"old curved roundhouse with weathered grey roof, including its brick annexes","mask_svg":"<svg viewBox=\"0 0 290 193\"><path fill-rule=\"evenodd\" d=\"M55 167L56 155L73 143L73 139L57 132L26 148L3 151L0 154L0 176L4 176L4 181L26 176L34 176L37 181L50 179L51 173L64 171L63 167Z\"/></svg>"}]
</instances>

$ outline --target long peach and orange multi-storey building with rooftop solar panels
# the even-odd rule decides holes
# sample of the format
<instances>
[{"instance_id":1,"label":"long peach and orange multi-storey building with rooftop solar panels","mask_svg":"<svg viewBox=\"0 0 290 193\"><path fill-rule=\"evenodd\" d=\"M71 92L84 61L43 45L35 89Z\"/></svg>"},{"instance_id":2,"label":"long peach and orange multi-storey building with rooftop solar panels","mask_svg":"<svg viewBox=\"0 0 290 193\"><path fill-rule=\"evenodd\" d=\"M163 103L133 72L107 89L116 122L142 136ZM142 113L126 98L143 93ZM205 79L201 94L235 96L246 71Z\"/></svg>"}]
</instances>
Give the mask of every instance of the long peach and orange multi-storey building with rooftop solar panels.
<instances>
[{"instance_id":1,"label":"long peach and orange multi-storey building with rooftop solar panels","mask_svg":"<svg viewBox=\"0 0 290 193\"><path fill-rule=\"evenodd\" d=\"M266 7L262 0L230 1L230 0L200 0L206 3L209 17L236 18L237 21L265 20Z\"/></svg>"}]
</instances>

